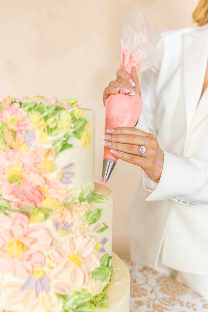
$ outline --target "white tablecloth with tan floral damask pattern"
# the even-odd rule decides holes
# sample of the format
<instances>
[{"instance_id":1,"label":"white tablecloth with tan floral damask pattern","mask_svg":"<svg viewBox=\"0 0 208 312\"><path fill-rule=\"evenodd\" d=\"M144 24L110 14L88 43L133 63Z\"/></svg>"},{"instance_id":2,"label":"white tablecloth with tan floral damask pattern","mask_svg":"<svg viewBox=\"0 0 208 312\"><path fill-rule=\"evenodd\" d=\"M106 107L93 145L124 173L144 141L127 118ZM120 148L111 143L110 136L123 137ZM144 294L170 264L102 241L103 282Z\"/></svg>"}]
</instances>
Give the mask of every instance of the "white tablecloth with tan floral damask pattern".
<instances>
[{"instance_id":1,"label":"white tablecloth with tan floral damask pattern","mask_svg":"<svg viewBox=\"0 0 208 312\"><path fill-rule=\"evenodd\" d=\"M208 311L208 300L171 277L124 260L131 275L130 312Z\"/></svg>"}]
</instances>

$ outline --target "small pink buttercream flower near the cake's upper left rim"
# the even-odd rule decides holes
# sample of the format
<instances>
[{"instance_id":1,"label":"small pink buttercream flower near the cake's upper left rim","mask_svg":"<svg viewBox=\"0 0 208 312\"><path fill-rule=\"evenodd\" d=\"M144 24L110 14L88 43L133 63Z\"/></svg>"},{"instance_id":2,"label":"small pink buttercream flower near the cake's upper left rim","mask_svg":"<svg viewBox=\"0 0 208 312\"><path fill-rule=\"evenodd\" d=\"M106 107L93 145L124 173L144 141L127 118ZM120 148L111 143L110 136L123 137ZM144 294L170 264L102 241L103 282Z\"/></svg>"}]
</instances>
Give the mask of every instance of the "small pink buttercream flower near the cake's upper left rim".
<instances>
[{"instance_id":1,"label":"small pink buttercream flower near the cake's upper left rim","mask_svg":"<svg viewBox=\"0 0 208 312\"><path fill-rule=\"evenodd\" d=\"M26 118L27 112L22 110L19 103L16 102L12 105L7 105L7 108L0 113L0 120L18 134L28 130L29 123Z\"/></svg>"}]
</instances>

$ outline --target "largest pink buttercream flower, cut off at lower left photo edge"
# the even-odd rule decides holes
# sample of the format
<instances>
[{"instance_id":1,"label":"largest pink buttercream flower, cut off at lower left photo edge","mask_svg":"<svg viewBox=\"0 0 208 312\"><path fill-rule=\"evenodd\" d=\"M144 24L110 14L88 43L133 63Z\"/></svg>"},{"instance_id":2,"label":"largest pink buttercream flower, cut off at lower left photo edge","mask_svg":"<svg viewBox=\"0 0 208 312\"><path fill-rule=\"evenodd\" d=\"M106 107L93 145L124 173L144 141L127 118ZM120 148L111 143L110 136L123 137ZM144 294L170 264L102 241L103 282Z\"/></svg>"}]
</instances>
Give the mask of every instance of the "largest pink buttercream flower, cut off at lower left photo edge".
<instances>
[{"instance_id":1,"label":"largest pink buttercream flower, cut off at lower left photo edge","mask_svg":"<svg viewBox=\"0 0 208 312\"><path fill-rule=\"evenodd\" d=\"M44 227L28 228L29 219L19 212L11 217L0 213L0 272L11 272L19 279L28 278L34 267L42 267L41 250L49 248L52 239Z\"/></svg>"}]
</instances>

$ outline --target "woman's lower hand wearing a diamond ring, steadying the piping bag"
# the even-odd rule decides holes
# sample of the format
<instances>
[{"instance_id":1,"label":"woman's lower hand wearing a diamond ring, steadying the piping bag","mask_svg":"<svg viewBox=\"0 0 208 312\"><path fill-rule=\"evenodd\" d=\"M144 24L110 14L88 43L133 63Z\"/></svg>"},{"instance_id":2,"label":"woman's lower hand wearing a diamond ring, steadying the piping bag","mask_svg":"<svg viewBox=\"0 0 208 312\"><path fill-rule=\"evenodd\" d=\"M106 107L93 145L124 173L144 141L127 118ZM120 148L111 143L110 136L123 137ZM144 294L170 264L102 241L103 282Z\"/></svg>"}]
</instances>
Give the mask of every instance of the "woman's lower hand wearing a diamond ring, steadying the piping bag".
<instances>
[{"instance_id":1,"label":"woman's lower hand wearing a diamond ring, steadying the piping bag","mask_svg":"<svg viewBox=\"0 0 208 312\"><path fill-rule=\"evenodd\" d=\"M102 138L103 144L117 158L140 166L148 177L158 183L163 167L163 152L152 134L136 128L115 128L107 130L109 135ZM146 152L141 156L140 147L145 146Z\"/></svg>"}]
</instances>

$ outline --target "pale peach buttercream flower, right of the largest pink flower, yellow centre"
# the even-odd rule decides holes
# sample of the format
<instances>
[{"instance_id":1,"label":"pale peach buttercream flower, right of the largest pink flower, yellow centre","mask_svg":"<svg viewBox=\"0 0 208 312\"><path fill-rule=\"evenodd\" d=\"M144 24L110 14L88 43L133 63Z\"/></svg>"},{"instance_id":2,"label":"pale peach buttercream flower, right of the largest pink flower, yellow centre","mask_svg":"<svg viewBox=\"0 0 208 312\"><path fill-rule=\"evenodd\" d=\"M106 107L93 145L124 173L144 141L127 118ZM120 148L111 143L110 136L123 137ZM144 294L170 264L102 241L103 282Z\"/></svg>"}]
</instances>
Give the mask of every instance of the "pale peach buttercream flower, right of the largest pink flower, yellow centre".
<instances>
[{"instance_id":1,"label":"pale peach buttercream flower, right of the largest pink flower, yellow centre","mask_svg":"<svg viewBox=\"0 0 208 312\"><path fill-rule=\"evenodd\" d=\"M62 241L55 242L50 249L51 259L57 266L51 275L67 278L71 285L81 287L89 280L89 273L100 266L100 261L92 253L96 241L93 237L78 233L76 236L65 236Z\"/></svg>"}]
</instances>

